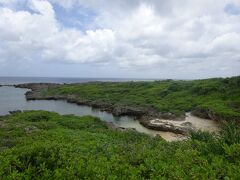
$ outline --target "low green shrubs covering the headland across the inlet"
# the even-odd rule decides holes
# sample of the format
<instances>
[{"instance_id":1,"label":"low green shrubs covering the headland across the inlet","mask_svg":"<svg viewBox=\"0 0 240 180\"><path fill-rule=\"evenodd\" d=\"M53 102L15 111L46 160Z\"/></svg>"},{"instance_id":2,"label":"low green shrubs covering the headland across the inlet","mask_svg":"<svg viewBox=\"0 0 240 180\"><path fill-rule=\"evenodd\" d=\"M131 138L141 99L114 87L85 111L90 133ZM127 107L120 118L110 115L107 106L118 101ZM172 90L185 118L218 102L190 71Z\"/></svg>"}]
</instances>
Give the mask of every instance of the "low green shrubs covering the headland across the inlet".
<instances>
[{"instance_id":1,"label":"low green shrubs covering the headland across the inlet","mask_svg":"<svg viewBox=\"0 0 240 180\"><path fill-rule=\"evenodd\" d=\"M69 96L116 107L137 107L147 111L204 110L217 119L240 118L240 76L194 81L86 83L49 88L44 96Z\"/></svg>"}]
</instances>

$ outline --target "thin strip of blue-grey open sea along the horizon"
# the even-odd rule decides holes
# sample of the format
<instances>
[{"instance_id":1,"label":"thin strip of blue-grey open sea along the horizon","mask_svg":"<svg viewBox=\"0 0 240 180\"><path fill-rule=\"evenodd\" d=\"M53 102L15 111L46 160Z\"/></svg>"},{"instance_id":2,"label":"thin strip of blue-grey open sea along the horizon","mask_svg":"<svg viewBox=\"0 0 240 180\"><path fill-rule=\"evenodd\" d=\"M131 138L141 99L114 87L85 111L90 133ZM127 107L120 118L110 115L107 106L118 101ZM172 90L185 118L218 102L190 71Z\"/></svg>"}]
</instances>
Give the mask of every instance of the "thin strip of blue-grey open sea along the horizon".
<instances>
[{"instance_id":1,"label":"thin strip of blue-grey open sea along the horizon","mask_svg":"<svg viewBox=\"0 0 240 180\"><path fill-rule=\"evenodd\" d=\"M85 83L85 82L126 82L126 81L153 81L152 79L128 78L62 78L62 77L0 77L0 85L13 85L22 83Z\"/></svg>"}]
</instances>

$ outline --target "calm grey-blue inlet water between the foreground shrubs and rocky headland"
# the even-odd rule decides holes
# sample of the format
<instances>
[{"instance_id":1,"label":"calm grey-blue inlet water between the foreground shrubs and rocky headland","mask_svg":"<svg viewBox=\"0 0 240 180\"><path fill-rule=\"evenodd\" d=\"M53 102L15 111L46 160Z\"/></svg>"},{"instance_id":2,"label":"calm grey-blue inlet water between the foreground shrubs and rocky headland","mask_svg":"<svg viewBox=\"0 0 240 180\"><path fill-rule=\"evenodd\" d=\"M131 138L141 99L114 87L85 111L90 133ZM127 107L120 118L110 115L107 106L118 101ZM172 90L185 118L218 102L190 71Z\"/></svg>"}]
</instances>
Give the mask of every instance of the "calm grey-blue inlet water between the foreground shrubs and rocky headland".
<instances>
[{"instance_id":1,"label":"calm grey-blue inlet water between the foreground shrubs and rocky headland","mask_svg":"<svg viewBox=\"0 0 240 180\"><path fill-rule=\"evenodd\" d=\"M115 117L111 113L102 112L98 109L88 106L79 106L59 100L26 101L24 95L26 91L28 90L7 86L0 87L0 115L6 115L9 111L14 110L47 110L54 111L59 114L74 114L79 116L92 115L99 117L103 121L113 122L117 126L135 128L139 132L147 133L150 135L160 134L163 137L168 137L171 135L171 133L149 130L143 127L132 117Z\"/></svg>"}]
</instances>

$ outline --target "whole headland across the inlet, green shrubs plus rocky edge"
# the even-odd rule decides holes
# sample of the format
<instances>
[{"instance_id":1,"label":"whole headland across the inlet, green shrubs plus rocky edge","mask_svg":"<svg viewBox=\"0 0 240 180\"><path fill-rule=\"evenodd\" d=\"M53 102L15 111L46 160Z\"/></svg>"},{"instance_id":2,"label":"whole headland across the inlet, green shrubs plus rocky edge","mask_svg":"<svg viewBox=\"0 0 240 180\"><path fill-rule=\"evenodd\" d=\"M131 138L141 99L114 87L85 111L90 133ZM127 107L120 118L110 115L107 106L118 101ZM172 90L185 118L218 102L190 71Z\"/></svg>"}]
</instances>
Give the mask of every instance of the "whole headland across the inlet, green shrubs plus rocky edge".
<instances>
[{"instance_id":1,"label":"whole headland across the inlet, green shrubs plus rocky edge","mask_svg":"<svg viewBox=\"0 0 240 180\"><path fill-rule=\"evenodd\" d=\"M183 121L185 114L215 121L240 122L240 76L204 80L154 82L28 83L27 100L66 100L116 116L134 116L146 128L187 134L189 124L176 126L154 119Z\"/></svg>"}]
</instances>

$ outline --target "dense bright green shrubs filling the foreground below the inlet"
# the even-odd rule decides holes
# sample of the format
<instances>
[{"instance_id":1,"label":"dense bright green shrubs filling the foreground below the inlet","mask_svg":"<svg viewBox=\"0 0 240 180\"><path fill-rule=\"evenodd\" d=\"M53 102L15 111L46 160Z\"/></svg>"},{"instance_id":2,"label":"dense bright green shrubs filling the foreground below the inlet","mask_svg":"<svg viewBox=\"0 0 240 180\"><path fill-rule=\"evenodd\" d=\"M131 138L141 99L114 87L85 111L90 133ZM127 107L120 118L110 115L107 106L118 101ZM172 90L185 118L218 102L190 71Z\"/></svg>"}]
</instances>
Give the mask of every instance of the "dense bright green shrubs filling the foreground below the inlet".
<instances>
[{"instance_id":1,"label":"dense bright green shrubs filling the foreground below the inlet","mask_svg":"<svg viewBox=\"0 0 240 180\"><path fill-rule=\"evenodd\" d=\"M166 142L94 117L26 111L0 118L0 179L239 179L240 130Z\"/></svg>"}]
</instances>

